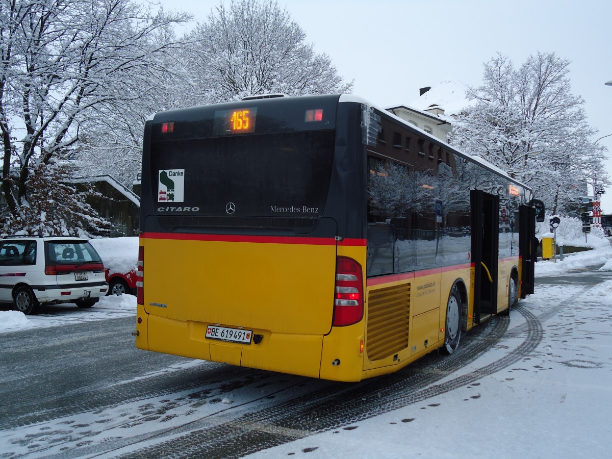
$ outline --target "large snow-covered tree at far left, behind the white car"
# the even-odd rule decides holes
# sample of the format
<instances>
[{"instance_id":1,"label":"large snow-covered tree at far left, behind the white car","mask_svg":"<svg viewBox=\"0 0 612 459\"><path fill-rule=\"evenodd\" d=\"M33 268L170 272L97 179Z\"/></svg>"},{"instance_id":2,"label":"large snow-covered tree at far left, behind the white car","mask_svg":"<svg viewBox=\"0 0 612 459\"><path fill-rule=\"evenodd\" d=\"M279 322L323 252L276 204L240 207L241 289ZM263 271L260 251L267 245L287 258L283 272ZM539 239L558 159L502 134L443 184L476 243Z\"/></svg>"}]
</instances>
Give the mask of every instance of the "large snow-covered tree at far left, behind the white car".
<instances>
[{"instance_id":1,"label":"large snow-covered tree at far left, behind the white car","mask_svg":"<svg viewBox=\"0 0 612 459\"><path fill-rule=\"evenodd\" d=\"M4 230L97 226L83 196L65 185L66 165L86 127L99 123L106 144L116 142L122 117L139 110L166 70L172 45L159 37L184 18L132 0L0 0ZM53 202L43 206L44 196Z\"/></svg>"}]
</instances>

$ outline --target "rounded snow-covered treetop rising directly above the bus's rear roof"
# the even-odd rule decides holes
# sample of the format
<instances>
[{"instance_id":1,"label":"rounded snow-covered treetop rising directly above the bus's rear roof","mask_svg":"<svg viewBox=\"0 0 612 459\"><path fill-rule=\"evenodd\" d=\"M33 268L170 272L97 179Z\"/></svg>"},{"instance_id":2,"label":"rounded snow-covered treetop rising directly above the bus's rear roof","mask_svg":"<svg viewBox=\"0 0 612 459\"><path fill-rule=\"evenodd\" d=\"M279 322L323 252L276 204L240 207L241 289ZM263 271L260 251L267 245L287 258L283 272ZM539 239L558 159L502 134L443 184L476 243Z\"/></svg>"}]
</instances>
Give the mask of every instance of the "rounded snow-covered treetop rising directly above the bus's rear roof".
<instances>
[{"instance_id":1,"label":"rounded snow-covered treetop rising directly above the bus's rear roof","mask_svg":"<svg viewBox=\"0 0 612 459\"><path fill-rule=\"evenodd\" d=\"M305 32L271 0L232 0L212 10L188 34L197 41L185 65L195 81L194 103L246 95L350 92L327 54L305 43Z\"/></svg>"}]
</instances>

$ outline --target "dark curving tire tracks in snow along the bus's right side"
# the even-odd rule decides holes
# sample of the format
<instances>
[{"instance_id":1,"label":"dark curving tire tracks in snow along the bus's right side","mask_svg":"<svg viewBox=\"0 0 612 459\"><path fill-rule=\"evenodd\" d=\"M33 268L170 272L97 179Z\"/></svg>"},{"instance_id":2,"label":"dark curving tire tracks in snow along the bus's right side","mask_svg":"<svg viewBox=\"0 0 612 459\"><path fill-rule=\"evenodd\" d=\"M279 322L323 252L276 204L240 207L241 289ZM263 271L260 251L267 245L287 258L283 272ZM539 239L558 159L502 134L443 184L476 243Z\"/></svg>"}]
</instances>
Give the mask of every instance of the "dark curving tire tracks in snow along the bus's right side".
<instances>
[{"instance_id":1,"label":"dark curving tire tracks in snow along the bus's right side","mask_svg":"<svg viewBox=\"0 0 612 459\"><path fill-rule=\"evenodd\" d=\"M520 309L523 313L523 309ZM529 316L529 313L525 311ZM269 408L248 412L225 422L202 420L200 425L182 435L177 432L151 437L136 452L133 446L114 453L122 458L140 457L242 457L248 453L268 449L295 439L304 438L334 428L378 416L393 409L435 397L435 395L469 384L487 374L511 365L535 348L542 337L542 327L537 319L532 332L516 349L493 364L486 365L468 375L446 383L431 384L452 375L454 371L476 360L506 334L509 318L496 316L466 335L463 346L452 356L439 359L435 355L424 357L398 373L367 379L358 384L329 383L315 392L300 395ZM467 342L465 342L467 341ZM373 395L375 397L373 397Z\"/></svg>"}]
</instances>

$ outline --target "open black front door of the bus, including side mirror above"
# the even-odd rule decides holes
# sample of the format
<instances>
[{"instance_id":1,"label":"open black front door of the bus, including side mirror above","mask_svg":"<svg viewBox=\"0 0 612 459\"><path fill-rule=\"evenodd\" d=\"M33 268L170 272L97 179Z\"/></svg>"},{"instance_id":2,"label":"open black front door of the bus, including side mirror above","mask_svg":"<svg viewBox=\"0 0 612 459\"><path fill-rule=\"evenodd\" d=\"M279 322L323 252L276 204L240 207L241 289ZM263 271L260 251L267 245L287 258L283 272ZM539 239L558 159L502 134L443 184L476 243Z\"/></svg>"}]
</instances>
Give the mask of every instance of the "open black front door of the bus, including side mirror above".
<instances>
[{"instance_id":1,"label":"open black front door of the bus, including side mirror above","mask_svg":"<svg viewBox=\"0 0 612 459\"><path fill-rule=\"evenodd\" d=\"M537 202L535 202L537 201ZM535 204L534 204L535 202ZM537 261L535 221L544 221L544 204L532 200L534 206L518 206L518 255L521 257L521 298L534 293L534 270Z\"/></svg>"}]
</instances>

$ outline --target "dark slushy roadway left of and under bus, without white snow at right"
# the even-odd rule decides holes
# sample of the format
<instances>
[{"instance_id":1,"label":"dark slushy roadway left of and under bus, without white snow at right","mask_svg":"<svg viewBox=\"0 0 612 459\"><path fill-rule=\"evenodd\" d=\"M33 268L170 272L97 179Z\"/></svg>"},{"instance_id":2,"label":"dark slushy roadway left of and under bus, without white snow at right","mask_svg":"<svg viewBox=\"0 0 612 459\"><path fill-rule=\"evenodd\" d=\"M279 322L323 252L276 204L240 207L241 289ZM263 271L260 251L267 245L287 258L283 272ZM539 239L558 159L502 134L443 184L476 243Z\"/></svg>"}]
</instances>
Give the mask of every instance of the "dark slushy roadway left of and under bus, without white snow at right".
<instances>
[{"instance_id":1,"label":"dark slushy roadway left of and under bus, without white snow at right","mask_svg":"<svg viewBox=\"0 0 612 459\"><path fill-rule=\"evenodd\" d=\"M427 400L439 393L431 383L485 352L508 323L480 327L450 358L343 384L137 351L133 319L0 335L3 457L241 456Z\"/></svg>"}]
</instances>

